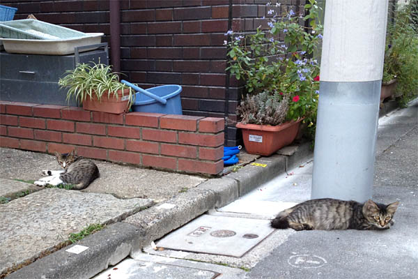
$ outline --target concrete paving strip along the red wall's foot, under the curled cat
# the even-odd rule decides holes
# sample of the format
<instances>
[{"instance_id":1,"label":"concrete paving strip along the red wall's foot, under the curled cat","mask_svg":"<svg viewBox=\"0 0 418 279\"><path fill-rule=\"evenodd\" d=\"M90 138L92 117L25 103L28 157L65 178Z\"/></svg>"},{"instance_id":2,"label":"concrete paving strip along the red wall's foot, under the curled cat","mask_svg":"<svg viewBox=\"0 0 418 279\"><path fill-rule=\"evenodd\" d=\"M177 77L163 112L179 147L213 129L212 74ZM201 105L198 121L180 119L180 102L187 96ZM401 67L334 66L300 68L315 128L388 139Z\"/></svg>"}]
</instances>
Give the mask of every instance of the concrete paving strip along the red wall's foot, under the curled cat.
<instances>
[{"instance_id":1,"label":"concrete paving strip along the red wall's foot, under the curled cat","mask_svg":"<svg viewBox=\"0 0 418 279\"><path fill-rule=\"evenodd\" d=\"M0 177L4 179L33 181L42 176L42 169L60 169L55 156L44 153L2 148L0 158ZM200 176L93 161L98 165L100 177L83 192L112 194L123 199L150 198L162 202L206 181Z\"/></svg>"}]
</instances>

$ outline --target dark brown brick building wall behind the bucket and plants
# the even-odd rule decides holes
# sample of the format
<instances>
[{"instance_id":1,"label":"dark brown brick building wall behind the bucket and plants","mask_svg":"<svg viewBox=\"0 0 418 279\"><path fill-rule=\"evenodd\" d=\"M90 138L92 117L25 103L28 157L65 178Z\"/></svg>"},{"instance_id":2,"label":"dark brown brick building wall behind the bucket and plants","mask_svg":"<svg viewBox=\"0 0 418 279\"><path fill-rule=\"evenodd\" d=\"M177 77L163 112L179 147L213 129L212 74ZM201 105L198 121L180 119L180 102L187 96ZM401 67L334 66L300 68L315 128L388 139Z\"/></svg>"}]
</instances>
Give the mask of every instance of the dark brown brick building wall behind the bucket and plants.
<instances>
[{"instance_id":1,"label":"dark brown brick building wall behind the bucket and plants","mask_svg":"<svg viewBox=\"0 0 418 279\"><path fill-rule=\"evenodd\" d=\"M183 86L183 114L228 117L225 145L241 141L234 121L243 87L225 72L224 33L267 27L265 4L277 0L121 0L121 72L145 88ZM303 10L304 0L280 0L280 14ZM38 20L83 32L102 32L109 42L108 0L5 0L15 19Z\"/></svg>"}]
</instances>

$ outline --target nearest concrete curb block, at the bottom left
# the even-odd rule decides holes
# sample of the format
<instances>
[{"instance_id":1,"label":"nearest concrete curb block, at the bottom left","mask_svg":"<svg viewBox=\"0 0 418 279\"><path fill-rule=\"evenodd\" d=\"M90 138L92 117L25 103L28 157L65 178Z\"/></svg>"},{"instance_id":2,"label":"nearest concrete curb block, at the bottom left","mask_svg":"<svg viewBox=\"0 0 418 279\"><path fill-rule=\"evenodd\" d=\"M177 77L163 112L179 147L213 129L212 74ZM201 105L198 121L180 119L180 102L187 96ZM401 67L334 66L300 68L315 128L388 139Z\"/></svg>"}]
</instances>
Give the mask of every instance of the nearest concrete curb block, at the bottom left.
<instances>
[{"instance_id":1,"label":"nearest concrete curb block, at the bottom left","mask_svg":"<svg viewBox=\"0 0 418 279\"><path fill-rule=\"evenodd\" d=\"M139 241L138 228L127 223L115 223L102 231L87 236L86 239L38 259L14 273L10 279L48 278L84 279L95 276L130 255ZM75 254L67 250L76 246L88 247Z\"/></svg>"}]
</instances>

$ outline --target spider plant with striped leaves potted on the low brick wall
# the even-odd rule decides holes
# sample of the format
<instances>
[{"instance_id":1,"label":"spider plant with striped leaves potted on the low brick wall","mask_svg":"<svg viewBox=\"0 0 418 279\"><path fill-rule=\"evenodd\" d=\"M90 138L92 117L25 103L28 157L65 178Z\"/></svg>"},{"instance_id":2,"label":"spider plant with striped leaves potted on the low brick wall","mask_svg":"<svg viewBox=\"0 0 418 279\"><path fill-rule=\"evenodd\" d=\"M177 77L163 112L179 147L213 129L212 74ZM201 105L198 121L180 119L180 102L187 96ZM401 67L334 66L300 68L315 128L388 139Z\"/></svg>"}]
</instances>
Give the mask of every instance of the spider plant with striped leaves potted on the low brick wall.
<instances>
[{"instance_id":1,"label":"spider plant with striped leaves potted on the low brick wall","mask_svg":"<svg viewBox=\"0 0 418 279\"><path fill-rule=\"evenodd\" d=\"M97 96L98 100L103 97L111 98L114 96L118 99L118 91L129 89L128 100L129 105L132 104L134 98L133 90L119 82L118 73L112 73L111 66L102 63L82 63L77 64L74 70L67 70L65 77L59 79L61 88L68 87L67 100L71 98L83 103L87 98L92 99Z\"/></svg>"}]
</instances>

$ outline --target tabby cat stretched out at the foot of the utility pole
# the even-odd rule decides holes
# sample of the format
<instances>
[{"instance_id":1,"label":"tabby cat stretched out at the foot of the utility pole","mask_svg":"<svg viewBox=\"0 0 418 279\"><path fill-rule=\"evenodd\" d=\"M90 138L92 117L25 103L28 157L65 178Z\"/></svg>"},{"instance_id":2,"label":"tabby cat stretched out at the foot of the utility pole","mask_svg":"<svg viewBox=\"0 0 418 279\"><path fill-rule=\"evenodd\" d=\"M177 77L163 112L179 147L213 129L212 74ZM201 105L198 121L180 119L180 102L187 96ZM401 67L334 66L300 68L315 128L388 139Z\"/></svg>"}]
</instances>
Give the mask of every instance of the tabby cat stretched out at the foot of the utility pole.
<instances>
[{"instance_id":1,"label":"tabby cat stretched out at the foot of the utility pole","mask_svg":"<svg viewBox=\"0 0 418 279\"><path fill-rule=\"evenodd\" d=\"M389 229L399 202L364 204L340 199L311 199L281 211L271 221L277 229Z\"/></svg>"}]
</instances>

